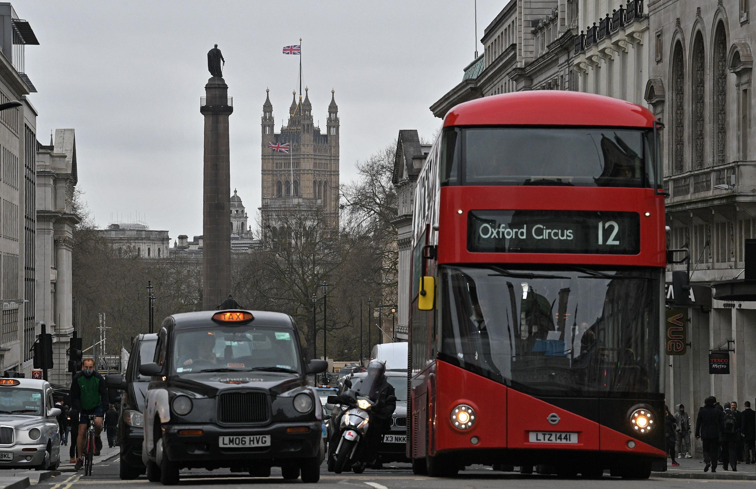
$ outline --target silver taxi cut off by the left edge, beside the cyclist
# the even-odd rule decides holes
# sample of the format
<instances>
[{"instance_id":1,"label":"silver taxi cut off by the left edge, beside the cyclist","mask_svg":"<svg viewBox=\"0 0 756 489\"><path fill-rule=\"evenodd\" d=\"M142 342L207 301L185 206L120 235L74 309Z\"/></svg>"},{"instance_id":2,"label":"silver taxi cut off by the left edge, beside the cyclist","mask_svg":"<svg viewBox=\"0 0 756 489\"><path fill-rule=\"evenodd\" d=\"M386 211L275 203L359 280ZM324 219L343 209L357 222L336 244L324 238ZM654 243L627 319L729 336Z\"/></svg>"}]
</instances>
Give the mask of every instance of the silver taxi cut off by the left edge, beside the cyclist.
<instances>
[{"instance_id":1,"label":"silver taxi cut off by the left edge, beside the cyclist","mask_svg":"<svg viewBox=\"0 0 756 489\"><path fill-rule=\"evenodd\" d=\"M0 379L0 469L57 469L57 416L46 380Z\"/></svg>"}]
</instances>

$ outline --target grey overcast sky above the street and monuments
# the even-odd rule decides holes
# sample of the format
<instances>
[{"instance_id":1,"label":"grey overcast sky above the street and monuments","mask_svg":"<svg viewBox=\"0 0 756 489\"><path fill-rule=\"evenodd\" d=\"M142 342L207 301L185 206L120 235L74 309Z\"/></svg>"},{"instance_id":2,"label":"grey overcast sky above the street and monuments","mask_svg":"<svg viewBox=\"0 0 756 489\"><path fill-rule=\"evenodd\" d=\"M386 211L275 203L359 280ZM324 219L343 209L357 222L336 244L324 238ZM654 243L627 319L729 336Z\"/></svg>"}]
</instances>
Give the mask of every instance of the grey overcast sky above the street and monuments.
<instances>
[{"instance_id":1,"label":"grey overcast sky above the street and monuments","mask_svg":"<svg viewBox=\"0 0 756 489\"><path fill-rule=\"evenodd\" d=\"M441 119L428 107L461 81L476 45L473 0L12 3L40 42L26 46L39 141L76 129L79 187L98 225L139 215L172 240L202 234L200 97L213 44L234 97L231 190L250 218L265 88L278 132L297 85L299 58L283 46L302 38L303 84L324 132L336 90L344 183L400 129L435 132ZM478 0L478 39L506 3Z\"/></svg>"}]
</instances>

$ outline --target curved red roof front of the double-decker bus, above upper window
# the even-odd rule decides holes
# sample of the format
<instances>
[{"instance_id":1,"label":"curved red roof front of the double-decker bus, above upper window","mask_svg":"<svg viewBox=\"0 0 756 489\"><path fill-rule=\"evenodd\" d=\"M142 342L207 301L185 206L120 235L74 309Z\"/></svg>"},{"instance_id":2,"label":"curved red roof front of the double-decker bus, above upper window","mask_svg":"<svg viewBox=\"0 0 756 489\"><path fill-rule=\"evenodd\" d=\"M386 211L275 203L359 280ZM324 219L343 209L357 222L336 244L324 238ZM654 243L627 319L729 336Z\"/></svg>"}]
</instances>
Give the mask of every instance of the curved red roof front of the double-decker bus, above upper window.
<instances>
[{"instance_id":1,"label":"curved red roof front of the double-decker bus, above upper window","mask_svg":"<svg viewBox=\"0 0 756 489\"><path fill-rule=\"evenodd\" d=\"M453 125L579 125L652 128L655 117L637 104L566 90L529 90L493 95L453 107Z\"/></svg>"}]
</instances>

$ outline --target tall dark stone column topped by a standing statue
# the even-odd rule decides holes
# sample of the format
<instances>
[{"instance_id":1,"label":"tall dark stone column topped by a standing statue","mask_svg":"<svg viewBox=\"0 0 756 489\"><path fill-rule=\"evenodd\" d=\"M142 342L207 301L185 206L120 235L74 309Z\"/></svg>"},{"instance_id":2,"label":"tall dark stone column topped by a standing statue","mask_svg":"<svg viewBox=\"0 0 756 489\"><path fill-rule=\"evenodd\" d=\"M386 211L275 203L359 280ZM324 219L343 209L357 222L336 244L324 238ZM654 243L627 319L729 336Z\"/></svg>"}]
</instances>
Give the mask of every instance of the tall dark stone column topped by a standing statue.
<instances>
[{"instance_id":1,"label":"tall dark stone column topped by a standing statue","mask_svg":"<svg viewBox=\"0 0 756 489\"><path fill-rule=\"evenodd\" d=\"M231 169L228 116L234 112L228 85L222 78L223 56L218 45L207 54L212 77L200 99L205 116L203 166L202 308L215 309L231 292ZM223 60L225 64L225 60Z\"/></svg>"}]
</instances>

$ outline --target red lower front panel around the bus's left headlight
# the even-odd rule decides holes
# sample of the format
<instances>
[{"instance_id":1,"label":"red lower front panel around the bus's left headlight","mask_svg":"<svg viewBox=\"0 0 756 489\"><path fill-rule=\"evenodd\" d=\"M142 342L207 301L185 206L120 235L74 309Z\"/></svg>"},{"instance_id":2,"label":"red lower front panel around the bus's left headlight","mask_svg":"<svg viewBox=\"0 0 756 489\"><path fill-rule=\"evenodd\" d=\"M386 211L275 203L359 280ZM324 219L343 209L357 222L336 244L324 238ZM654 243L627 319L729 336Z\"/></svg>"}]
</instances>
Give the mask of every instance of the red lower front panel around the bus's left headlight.
<instances>
[{"instance_id":1,"label":"red lower front panel around the bus's left headlight","mask_svg":"<svg viewBox=\"0 0 756 489\"><path fill-rule=\"evenodd\" d=\"M439 451L470 448L507 447L507 393L510 389L460 367L436 361L436 403L434 407L435 444L431 455ZM476 412L471 429L460 431L451 422L451 411L467 404ZM472 437L478 443L472 443Z\"/></svg>"}]
</instances>

